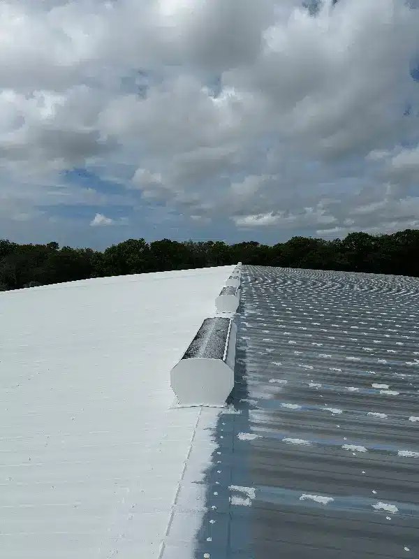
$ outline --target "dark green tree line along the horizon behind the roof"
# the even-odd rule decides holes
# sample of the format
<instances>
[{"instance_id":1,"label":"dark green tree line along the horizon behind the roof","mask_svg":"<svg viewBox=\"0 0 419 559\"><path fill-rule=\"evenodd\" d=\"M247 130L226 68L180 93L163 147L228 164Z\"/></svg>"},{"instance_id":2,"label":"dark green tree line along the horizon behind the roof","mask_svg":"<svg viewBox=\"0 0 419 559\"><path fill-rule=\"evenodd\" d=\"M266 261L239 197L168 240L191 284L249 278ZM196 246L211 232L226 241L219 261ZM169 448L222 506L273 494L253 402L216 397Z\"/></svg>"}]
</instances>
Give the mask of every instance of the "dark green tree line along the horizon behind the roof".
<instances>
[{"instance_id":1,"label":"dark green tree line along the horizon behind the roof","mask_svg":"<svg viewBox=\"0 0 419 559\"><path fill-rule=\"evenodd\" d=\"M277 245L259 242L146 242L128 239L103 252L89 248L19 245L0 240L0 291L72 282L90 277L142 274L228 266L242 262L255 266L342 270L419 277L419 231L392 235L350 233L344 239L293 237Z\"/></svg>"}]
</instances>

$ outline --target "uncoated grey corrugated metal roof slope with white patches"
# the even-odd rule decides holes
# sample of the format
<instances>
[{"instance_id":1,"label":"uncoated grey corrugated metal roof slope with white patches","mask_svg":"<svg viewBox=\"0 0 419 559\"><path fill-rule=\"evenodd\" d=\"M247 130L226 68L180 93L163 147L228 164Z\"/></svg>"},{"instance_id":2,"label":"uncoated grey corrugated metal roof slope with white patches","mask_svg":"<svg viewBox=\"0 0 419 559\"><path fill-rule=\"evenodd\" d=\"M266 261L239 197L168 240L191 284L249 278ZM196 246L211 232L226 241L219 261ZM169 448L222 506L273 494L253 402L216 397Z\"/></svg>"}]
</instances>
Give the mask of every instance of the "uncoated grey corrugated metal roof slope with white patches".
<instances>
[{"instance_id":1,"label":"uncoated grey corrugated metal roof slope with white patches","mask_svg":"<svg viewBox=\"0 0 419 559\"><path fill-rule=\"evenodd\" d=\"M196 558L419 557L418 296L408 277L243 266Z\"/></svg>"}]
</instances>

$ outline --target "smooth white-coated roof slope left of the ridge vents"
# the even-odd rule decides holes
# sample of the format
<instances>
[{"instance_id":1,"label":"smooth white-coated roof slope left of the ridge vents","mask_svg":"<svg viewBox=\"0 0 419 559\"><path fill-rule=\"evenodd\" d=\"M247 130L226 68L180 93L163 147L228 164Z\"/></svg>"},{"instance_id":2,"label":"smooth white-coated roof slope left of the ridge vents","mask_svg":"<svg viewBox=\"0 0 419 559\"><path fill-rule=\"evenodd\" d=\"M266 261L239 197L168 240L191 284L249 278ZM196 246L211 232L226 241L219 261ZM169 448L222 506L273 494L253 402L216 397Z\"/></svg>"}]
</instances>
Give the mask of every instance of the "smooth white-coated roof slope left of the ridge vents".
<instances>
[{"instance_id":1,"label":"smooth white-coated roof slope left of the ridge vents","mask_svg":"<svg viewBox=\"0 0 419 559\"><path fill-rule=\"evenodd\" d=\"M220 410L173 407L170 369L233 269L0 293L1 557L193 556Z\"/></svg>"}]
</instances>

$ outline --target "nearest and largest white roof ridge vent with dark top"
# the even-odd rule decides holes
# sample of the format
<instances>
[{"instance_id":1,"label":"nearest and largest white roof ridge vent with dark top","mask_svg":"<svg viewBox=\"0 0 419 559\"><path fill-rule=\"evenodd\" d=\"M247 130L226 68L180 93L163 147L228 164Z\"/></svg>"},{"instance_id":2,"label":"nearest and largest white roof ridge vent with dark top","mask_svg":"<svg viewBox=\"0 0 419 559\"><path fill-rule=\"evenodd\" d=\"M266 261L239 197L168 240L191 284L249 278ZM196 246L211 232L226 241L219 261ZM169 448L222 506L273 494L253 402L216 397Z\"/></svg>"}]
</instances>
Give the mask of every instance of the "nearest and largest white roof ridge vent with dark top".
<instances>
[{"instance_id":1,"label":"nearest and largest white roof ridge vent with dark top","mask_svg":"<svg viewBox=\"0 0 419 559\"><path fill-rule=\"evenodd\" d=\"M234 386L237 326L207 318L182 359L170 371L170 386L182 406L223 406Z\"/></svg>"}]
</instances>

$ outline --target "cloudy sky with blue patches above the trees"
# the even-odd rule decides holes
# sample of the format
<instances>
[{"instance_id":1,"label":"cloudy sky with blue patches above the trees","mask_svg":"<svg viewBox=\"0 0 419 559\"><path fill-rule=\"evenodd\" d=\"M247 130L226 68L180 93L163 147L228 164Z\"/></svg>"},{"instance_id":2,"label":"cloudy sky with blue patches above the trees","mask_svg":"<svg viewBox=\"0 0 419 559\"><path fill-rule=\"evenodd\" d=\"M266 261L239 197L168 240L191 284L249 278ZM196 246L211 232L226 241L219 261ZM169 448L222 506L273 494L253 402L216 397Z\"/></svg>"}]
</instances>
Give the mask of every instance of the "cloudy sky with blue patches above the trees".
<instances>
[{"instance_id":1,"label":"cloudy sky with blue patches above the trees","mask_svg":"<svg viewBox=\"0 0 419 559\"><path fill-rule=\"evenodd\" d=\"M3 0L0 238L419 228L419 1L303 4Z\"/></svg>"}]
</instances>

